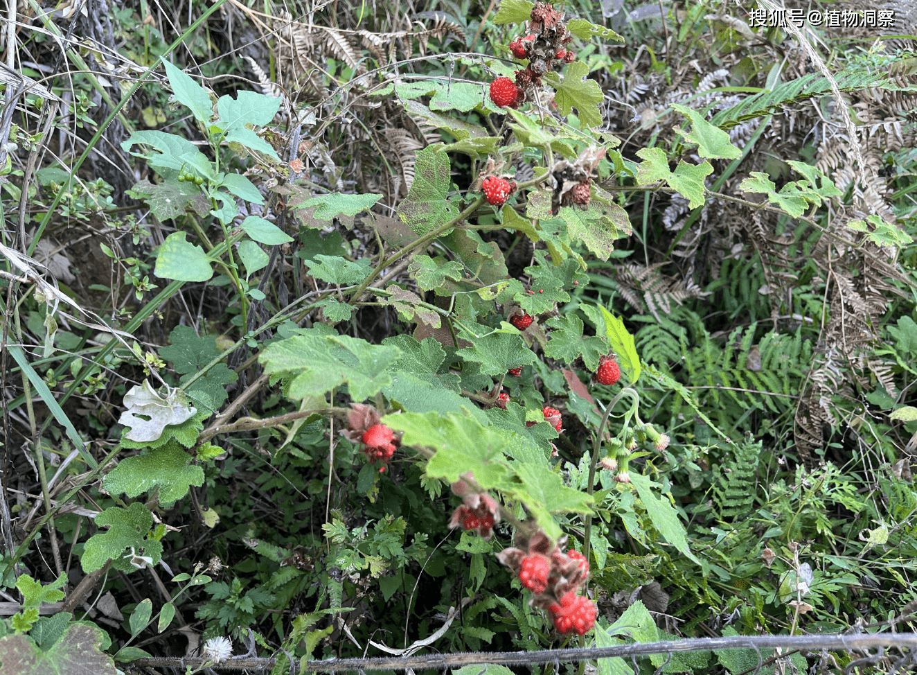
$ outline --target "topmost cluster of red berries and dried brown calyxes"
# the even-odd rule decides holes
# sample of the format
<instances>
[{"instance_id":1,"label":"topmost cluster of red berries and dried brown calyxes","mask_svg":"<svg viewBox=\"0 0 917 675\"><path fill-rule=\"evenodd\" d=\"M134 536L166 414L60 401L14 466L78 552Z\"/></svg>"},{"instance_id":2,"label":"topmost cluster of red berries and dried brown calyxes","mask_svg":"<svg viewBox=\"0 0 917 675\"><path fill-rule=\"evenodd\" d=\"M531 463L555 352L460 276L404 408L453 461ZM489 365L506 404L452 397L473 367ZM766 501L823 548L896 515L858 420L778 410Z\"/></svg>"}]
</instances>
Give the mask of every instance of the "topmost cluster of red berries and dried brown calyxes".
<instances>
[{"instance_id":1,"label":"topmost cluster of red berries and dried brown calyxes","mask_svg":"<svg viewBox=\"0 0 917 675\"><path fill-rule=\"evenodd\" d=\"M498 77L491 83L491 100L500 107L518 107L533 85L541 86L541 76L554 68L554 61L571 63L576 54L567 47L573 39L564 26L563 15L547 3L536 2L528 22L528 34L510 43L516 59L528 59L528 66L515 72L515 82Z\"/></svg>"}]
</instances>

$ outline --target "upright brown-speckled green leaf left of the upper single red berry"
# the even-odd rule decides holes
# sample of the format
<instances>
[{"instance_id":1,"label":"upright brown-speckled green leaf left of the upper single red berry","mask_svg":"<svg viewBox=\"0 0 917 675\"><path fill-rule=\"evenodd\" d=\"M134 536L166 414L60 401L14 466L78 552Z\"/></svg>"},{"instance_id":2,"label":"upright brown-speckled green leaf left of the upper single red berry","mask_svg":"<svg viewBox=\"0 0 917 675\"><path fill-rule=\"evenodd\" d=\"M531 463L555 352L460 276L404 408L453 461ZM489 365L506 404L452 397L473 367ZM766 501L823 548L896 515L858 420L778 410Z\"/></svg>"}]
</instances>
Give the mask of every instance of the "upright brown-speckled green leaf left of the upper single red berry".
<instances>
[{"instance_id":1,"label":"upright brown-speckled green leaf left of the upper single red berry","mask_svg":"<svg viewBox=\"0 0 917 675\"><path fill-rule=\"evenodd\" d=\"M418 150L414 160L414 183L398 205L398 215L414 233L424 235L458 216L447 200L451 179L449 158L434 146Z\"/></svg>"}]
</instances>

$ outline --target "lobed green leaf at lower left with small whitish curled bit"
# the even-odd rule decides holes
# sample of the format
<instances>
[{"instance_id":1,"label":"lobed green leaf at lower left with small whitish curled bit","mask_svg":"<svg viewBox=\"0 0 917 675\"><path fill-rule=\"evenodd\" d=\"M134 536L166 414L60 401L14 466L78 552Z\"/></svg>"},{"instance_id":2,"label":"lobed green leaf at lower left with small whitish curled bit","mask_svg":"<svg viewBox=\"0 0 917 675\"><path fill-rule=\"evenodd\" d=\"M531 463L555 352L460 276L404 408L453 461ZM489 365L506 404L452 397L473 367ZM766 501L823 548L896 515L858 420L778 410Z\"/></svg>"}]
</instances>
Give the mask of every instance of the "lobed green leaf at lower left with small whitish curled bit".
<instances>
[{"instance_id":1,"label":"lobed green leaf at lower left with small whitish curled bit","mask_svg":"<svg viewBox=\"0 0 917 675\"><path fill-rule=\"evenodd\" d=\"M109 559L115 570L131 572L155 565L162 558L162 544L150 537L153 515L142 503L131 503L127 509L107 508L95 516L95 525L100 530L105 526L108 529L86 541L80 563L87 574L101 569Z\"/></svg>"}]
</instances>

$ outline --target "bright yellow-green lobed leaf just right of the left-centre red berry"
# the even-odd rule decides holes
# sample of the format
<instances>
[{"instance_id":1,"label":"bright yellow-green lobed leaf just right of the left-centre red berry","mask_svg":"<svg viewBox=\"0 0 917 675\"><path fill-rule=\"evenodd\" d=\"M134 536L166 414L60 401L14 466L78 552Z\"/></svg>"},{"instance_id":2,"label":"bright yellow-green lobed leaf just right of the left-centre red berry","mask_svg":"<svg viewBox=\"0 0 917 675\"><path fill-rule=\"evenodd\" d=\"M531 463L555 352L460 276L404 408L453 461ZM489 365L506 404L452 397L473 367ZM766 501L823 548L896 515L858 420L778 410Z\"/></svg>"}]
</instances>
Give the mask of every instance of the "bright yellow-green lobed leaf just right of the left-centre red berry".
<instances>
[{"instance_id":1,"label":"bright yellow-green lobed leaf just right of the left-centre red berry","mask_svg":"<svg viewBox=\"0 0 917 675\"><path fill-rule=\"evenodd\" d=\"M385 415L382 422L403 431L403 446L435 448L426 464L426 475L449 482L471 471L484 490L500 487L506 477L503 436L466 415L403 413Z\"/></svg>"}]
</instances>

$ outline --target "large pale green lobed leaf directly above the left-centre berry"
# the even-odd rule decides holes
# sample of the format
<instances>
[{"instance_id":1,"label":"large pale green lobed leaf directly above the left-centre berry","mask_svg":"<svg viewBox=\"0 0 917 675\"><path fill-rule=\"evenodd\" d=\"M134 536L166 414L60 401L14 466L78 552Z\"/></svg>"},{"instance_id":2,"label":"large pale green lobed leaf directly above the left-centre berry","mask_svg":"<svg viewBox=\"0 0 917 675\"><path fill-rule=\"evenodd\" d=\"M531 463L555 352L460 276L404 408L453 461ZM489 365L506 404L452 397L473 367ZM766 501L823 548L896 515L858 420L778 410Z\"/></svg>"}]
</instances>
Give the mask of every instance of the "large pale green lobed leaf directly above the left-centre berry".
<instances>
[{"instance_id":1,"label":"large pale green lobed leaf directly above the left-centre berry","mask_svg":"<svg viewBox=\"0 0 917 675\"><path fill-rule=\"evenodd\" d=\"M350 398L360 402L392 383L386 369L400 356L400 349L388 345L310 332L272 342L259 360L269 375L284 376L294 401L347 383Z\"/></svg>"}]
</instances>

